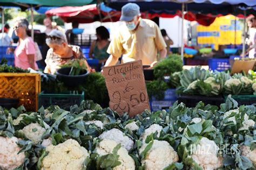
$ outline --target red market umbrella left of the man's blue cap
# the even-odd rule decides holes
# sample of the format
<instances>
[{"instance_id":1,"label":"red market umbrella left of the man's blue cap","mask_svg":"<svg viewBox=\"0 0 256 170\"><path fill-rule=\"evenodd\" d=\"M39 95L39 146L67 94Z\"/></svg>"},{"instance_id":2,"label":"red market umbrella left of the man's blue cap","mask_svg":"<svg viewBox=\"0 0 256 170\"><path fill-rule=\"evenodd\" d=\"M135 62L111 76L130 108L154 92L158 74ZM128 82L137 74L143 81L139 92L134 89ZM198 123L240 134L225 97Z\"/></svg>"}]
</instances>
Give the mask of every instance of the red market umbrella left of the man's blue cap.
<instances>
[{"instance_id":1,"label":"red market umbrella left of the man's blue cap","mask_svg":"<svg viewBox=\"0 0 256 170\"><path fill-rule=\"evenodd\" d=\"M117 22L121 12L114 11L104 4L100 4L97 8L96 4L84 6L63 6L60 8L51 9L45 12L46 16L57 15L66 23L76 20L78 23L100 22Z\"/></svg>"}]
</instances>

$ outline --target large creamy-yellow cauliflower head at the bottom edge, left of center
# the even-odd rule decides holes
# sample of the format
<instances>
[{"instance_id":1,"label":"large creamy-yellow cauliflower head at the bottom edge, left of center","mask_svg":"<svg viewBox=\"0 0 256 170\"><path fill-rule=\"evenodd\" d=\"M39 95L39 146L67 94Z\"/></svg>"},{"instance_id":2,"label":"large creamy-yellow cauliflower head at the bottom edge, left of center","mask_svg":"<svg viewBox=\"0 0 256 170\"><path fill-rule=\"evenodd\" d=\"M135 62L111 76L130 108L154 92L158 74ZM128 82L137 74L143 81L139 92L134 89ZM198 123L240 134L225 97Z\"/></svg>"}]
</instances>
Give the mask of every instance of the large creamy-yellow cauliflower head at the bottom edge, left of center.
<instances>
[{"instance_id":1,"label":"large creamy-yellow cauliflower head at the bottom edge, left of center","mask_svg":"<svg viewBox=\"0 0 256 170\"><path fill-rule=\"evenodd\" d=\"M49 152L42 161L41 169L82 169L83 162L90 154L76 140L69 139L56 146L46 147Z\"/></svg>"}]
</instances>

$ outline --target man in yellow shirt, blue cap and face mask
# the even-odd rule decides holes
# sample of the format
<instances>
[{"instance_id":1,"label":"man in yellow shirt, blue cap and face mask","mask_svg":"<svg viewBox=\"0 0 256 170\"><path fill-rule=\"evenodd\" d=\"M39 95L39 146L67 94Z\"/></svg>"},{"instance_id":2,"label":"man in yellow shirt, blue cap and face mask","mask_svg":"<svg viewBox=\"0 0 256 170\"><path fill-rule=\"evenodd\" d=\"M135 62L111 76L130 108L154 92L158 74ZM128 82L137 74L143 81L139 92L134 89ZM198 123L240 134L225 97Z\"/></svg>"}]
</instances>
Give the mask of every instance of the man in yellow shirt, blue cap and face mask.
<instances>
[{"instance_id":1,"label":"man in yellow shirt, blue cap and face mask","mask_svg":"<svg viewBox=\"0 0 256 170\"><path fill-rule=\"evenodd\" d=\"M161 59L166 57L166 44L159 27L153 21L140 17L137 4L124 5L120 20L125 24L120 26L107 49L110 56L105 66L116 65L122 55L123 63L142 60L143 65L156 63L158 51Z\"/></svg>"}]
</instances>

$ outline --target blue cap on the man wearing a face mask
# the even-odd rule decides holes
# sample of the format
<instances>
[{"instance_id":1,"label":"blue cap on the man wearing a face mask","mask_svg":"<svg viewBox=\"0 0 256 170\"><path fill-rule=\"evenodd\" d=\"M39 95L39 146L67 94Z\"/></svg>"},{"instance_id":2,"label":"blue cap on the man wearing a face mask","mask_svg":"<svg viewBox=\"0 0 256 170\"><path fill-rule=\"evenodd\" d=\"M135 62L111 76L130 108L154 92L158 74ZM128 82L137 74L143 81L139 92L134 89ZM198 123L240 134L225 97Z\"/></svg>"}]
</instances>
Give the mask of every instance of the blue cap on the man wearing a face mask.
<instances>
[{"instance_id":1,"label":"blue cap on the man wearing a face mask","mask_svg":"<svg viewBox=\"0 0 256 170\"><path fill-rule=\"evenodd\" d=\"M135 3L128 3L122 7L122 15L120 17L120 20L129 22L139 14L139 5Z\"/></svg>"}]
</instances>

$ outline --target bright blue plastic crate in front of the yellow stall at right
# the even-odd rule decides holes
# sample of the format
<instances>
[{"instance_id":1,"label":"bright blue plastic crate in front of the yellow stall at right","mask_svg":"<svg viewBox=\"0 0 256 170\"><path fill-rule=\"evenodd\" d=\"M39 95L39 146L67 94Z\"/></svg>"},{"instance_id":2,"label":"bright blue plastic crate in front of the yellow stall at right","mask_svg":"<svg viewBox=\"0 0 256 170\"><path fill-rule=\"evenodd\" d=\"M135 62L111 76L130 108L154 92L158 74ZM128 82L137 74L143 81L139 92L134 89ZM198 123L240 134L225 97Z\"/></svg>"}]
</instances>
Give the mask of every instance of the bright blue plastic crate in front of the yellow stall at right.
<instances>
[{"instance_id":1,"label":"bright blue plastic crate in front of the yellow stall at right","mask_svg":"<svg viewBox=\"0 0 256 170\"><path fill-rule=\"evenodd\" d=\"M210 70L218 70L220 72L231 68L229 59L209 59L208 66Z\"/></svg>"}]
</instances>

